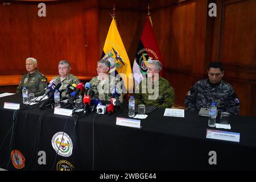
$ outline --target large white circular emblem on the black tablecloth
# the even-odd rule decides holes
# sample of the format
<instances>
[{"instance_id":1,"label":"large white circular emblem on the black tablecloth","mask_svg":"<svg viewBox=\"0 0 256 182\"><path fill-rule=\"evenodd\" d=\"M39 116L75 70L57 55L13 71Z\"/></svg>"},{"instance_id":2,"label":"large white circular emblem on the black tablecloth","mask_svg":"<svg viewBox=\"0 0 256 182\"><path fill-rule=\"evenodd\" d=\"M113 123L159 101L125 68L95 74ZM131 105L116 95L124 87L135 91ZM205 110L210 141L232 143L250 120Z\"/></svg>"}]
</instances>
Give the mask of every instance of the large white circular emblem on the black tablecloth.
<instances>
[{"instance_id":1,"label":"large white circular emblem on the black tablecloth","mask_svg":"<svg viewBox=\"0 0 256 182\"><path fill-rule=\"evenodd\" d=\"M72 155L73 143L68 134L58 132L52 137L52 147L58 155L69 157Z\"/></svg>"}]
</instances>

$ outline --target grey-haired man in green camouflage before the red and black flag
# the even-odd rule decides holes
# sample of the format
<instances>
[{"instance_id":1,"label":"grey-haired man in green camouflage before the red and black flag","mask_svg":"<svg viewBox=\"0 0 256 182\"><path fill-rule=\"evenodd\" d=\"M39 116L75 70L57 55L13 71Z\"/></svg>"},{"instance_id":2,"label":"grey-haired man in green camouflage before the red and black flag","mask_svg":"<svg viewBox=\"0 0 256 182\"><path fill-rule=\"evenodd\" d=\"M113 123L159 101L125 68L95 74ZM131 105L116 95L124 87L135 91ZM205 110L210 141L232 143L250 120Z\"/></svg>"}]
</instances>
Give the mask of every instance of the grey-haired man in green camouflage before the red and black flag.
<instances>
[{"instance_id":1,"label":"grey-haired man in green camouflage before the red and black flag","mask_svg":"<svg viewBox=\"0 0 256 182\"><path fill-rule=\"evenodd\" d=\"M135 89L135 104L171 108L175 98L174 88L166 79L159 77L162 64L158 60L148 60L147 64L147 78L144 78ZM154 94L151 88L154 89ZM156 96L155 92L158 93Z\"/></svg>"}]
</instances>

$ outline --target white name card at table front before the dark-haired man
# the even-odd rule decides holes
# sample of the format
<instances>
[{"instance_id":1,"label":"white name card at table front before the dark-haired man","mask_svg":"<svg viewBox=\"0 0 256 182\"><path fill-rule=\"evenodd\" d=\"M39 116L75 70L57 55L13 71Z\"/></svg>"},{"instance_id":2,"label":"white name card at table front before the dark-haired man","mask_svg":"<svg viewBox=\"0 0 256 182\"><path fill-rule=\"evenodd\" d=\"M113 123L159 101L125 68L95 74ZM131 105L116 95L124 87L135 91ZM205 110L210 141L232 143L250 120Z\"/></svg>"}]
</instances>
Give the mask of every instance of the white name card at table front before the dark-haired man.
<instances>
[{"instance_id":1,"label":"white name card at table front before the dark-haired man","mask_svg":"<svg viewBox=\"0 0 256 182\"><path fill-rule=\"evenodd\" d=\"M230 142L240 142L240 133L207 129L207 138L226 140Z\"/></svg>"}]
</instances>

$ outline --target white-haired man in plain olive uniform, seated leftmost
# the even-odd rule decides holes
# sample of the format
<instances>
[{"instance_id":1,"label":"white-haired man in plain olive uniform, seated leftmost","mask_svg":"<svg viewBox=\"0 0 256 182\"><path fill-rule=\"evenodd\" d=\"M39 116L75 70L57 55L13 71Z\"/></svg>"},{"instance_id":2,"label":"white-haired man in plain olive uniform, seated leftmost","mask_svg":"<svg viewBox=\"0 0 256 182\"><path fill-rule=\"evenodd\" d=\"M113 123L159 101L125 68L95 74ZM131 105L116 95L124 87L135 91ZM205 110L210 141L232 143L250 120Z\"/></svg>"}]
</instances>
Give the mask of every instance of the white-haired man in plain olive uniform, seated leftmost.
<instances>
[{"instance_id":1,"label":"white-haired man in plain olive uniform, seated leftmost","mask_svg":"<svg viewBox=\"0 0 256 182\"><path fill-rule=\"evenodd\" d=\"M44 89L47 86L47 78L38 71L37 66L36 59L28 57L26 60L27 73L22 76L20 84L16 88L16 93L22 93L24 86L26 86L28 93L34 93L35 97L44 93Z\"/></svg>"}]
</instances>

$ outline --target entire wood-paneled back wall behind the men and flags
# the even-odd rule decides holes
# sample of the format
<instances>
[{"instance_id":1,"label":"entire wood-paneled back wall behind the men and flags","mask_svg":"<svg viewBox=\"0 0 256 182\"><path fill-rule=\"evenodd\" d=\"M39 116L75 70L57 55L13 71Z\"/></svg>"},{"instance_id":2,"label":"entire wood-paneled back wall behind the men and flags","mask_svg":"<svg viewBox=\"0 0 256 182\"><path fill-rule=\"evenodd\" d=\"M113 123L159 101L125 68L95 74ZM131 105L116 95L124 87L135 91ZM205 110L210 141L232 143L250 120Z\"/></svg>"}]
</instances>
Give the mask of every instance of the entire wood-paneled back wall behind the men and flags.
<instances>
[{"instance_id":1,"label":"entire wood-paneled back wall behind the men and flags","mask_svg":"<svg viewBox=\"0 0 256 182\"><path fill-rule=\"evenodd\" d=\"M37 16L36 3L0 6L0 74L25 72L24 60L34 56L40 71L48 74L57 74L58 61L67 59L76 75L96 75L113 5L133 65L147 2L56 1L48 3L46 18ZM208 16L210 2L217 4L217 17ZM164 75L175 89L175 104L183 106L189 88L207 77L210 61L221 61L224 80L240 98L240 113L256 116L256 1L151 0L150 5Z\"/></svg>"}]
</instances>

